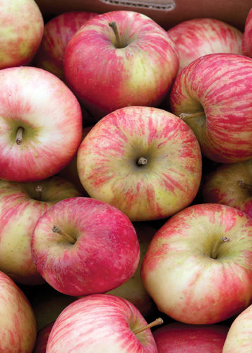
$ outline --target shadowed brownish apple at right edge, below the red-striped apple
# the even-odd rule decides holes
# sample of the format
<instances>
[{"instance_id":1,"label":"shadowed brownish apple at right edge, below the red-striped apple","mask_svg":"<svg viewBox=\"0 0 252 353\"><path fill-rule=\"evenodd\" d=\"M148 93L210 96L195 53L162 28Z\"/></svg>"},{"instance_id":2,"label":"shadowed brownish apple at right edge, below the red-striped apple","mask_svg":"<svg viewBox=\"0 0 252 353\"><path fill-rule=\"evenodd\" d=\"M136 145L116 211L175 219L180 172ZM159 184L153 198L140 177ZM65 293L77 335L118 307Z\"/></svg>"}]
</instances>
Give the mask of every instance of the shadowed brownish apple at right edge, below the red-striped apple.
<instances>
[{"instance_id":1,"label":"shadowed brownish apple at right edge, below the red-striped apple","mask_svg":"<svg viewBox=\"0 0 252 353\"><path fill-rule=\"evenodd\" d=\"M205 176L202 187L203 202L222 203L239 208L252 217L251 180L252 160L220 164Z\"/></svg>"}]
</instances>

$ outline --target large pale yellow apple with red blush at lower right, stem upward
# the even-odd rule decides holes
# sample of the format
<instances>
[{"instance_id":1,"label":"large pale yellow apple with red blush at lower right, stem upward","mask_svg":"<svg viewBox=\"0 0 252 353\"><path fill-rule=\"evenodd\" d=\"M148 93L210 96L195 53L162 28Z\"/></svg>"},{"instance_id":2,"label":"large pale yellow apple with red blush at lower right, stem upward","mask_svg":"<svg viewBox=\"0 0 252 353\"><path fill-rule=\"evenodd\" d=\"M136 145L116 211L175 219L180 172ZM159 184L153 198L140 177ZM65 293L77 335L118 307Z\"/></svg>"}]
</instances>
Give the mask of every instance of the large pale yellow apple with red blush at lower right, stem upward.
<instances>
[{"instance_id":1,"label":"large pale yellow apple with red blush at lower right, stem upward","mask_svg":"<svg viewBox=\"0 0 252 353\"><path fill-rule=\"evenodd\" d=\"M221 237L230 241L220 244ZM252 301L252 219L227 205L203 203L176 213L143 258L143 285L176 321L212 324Z\"/></svg>"}]
</instances>

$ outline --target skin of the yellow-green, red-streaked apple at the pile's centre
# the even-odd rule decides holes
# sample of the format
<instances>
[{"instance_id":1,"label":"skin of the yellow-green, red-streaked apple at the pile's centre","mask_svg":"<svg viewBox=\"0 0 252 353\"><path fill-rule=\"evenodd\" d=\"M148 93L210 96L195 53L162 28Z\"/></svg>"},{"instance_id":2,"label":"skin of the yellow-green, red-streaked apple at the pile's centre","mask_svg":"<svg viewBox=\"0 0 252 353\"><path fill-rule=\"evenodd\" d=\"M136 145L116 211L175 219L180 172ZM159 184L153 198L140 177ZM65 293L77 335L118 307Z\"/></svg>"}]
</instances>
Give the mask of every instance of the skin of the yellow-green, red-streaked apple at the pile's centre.
<instances>
[{"instance_id":1,"label":"skin of the yellow-green, red-streaked apple at the pile's centre","mask_svg":"<svg viewBox=\"0 0 252 353\"><path fill-rule=\"evenodd\" d=\"M147 164L138 165L140 157ZM174 114L124 107L104 116L85 136L77 168L92 198L115 205L132 221L148 221L193 201L202 158L193 131Z\"/></svg>"}]
</instances>

